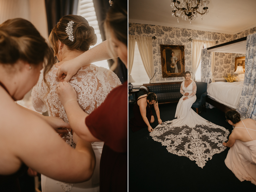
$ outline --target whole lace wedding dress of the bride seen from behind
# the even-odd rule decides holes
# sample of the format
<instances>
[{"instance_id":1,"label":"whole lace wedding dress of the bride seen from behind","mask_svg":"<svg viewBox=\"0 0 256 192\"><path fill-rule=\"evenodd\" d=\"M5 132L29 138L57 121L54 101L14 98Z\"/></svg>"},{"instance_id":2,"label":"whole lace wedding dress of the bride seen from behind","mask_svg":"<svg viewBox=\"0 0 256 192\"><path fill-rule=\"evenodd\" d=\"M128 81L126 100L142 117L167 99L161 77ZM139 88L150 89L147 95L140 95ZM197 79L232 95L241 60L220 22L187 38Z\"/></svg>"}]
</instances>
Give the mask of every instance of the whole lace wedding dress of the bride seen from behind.
<instances>
[{"instance_id":1,"label":"whole lace wedding dress of the bride seen from behind","mask_svg":"<svg viewBox=\"0 0 256 192\"><path fill-rule=\"evenodd\" d=\"M46 75L46 81L50 85L48 89L43 80L43 71L41 71L39 80L32 91L32 103L38 112L48 111L49 116L57 116L68 123L67 114L60 103L56 93L56 85L59 80L56 76L58 66L53 66ZM76 75L74 75L69 83L76 90L77 101L80 107L90 114L92 111L100 106L106 99L108 93L118 85L121 85L116 74L106 68L97 67L93 64L80 68ZM75 148L73 144L72 135L64 135L64 140L71 147ZM99 170L100 170L100 156L103 147L103 142L93 142L92 148L96 156L96 165L92 178L82 183L64 183L53 180L42 175L42 191L43 192L97 192L99 191ZM54 162L53 162L54 163ZM65 169L65 167L63 167Z\"/></svg>"}]
</instances>

